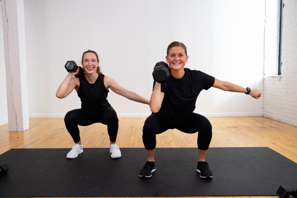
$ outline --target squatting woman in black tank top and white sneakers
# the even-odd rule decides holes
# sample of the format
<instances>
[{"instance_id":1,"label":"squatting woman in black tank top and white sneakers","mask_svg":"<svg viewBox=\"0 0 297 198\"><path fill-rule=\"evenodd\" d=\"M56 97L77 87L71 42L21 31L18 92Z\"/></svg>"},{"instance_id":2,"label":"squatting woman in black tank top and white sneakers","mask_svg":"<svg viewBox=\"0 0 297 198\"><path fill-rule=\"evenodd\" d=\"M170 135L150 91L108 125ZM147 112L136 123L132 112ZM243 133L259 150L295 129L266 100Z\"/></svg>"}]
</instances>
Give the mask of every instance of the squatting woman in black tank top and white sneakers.
<instances>
[{"instance_id":1,"label":"squatting woman in black tank top and white sneakers","mask_svg":"<svg viewBox=\"0 0 297 198\"><path fill-rule=\"evenodd\" d=\"M149 100L121 87L115 80L103 75L100 72L99 58L95 51L84 52L81 64L84 74L75 77L79 73L79 68L75 73L68 73L56 93L58 98L65 98L75 89L81 100L81 109L69 111L64 118L67 131L75 143L66 157L76 158L83 152L78 125L89 126L93 123L103 123L107 125L110 139L110 156L111 158L119 158L121 151L116 145L119 120L116 111L106 99L108 89L110 88L116 94L136 102L149 104Z\"/></svg>"}]
</instances>

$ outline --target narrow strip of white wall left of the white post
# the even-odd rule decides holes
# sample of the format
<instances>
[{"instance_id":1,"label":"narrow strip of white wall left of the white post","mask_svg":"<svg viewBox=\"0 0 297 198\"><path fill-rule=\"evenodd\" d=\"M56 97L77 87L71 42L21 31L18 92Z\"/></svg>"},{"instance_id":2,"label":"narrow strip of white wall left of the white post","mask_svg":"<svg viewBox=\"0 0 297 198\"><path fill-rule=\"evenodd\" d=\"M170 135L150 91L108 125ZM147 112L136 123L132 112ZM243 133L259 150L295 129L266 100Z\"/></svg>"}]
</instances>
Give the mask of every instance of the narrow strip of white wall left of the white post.
<instances>
[{"instance_id":1,"label":"narrow strip of white wall left of the white post","mask_svg":"<svg viewBox=\"0 0 297 198\"><path fill-rule=\"evenodd\" d=\"M8 123L2 6L0 6L0 125Z\"/></svg>"}]
</instances>

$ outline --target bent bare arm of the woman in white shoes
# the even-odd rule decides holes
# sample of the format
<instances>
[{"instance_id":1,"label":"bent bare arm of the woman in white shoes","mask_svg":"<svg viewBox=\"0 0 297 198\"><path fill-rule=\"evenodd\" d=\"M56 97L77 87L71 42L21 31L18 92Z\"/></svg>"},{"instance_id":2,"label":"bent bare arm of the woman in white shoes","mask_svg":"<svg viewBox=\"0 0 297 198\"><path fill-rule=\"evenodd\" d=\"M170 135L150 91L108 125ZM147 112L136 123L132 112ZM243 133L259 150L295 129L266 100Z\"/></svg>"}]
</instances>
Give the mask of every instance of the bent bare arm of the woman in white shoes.
<instances>
[{"instance_id":1,"label":"bent bare arm of the woman in white shoes","mask_svg":"<svg viewBox=\"0 0 297 198\"><path fill-rule=\"evenodd\" d=\"M79 72L79 69L75 73L68 73L66 78L63 80L61 85L59 86L56 97L57 98L65 98L68 96L73 89L76 89L78 91L79 88L79 79L74 78L74 75L76 75Z\"/></svg>"}]
</instances>

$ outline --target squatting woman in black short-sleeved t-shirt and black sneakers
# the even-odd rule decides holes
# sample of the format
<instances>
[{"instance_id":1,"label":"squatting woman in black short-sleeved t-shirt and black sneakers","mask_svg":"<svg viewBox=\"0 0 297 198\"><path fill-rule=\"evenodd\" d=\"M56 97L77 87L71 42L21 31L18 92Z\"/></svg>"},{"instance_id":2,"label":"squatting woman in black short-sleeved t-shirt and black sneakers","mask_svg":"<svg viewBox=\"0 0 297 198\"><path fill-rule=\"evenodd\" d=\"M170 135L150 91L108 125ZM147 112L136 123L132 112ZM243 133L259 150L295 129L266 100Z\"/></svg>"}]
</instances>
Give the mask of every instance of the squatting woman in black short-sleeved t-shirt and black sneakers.
<instances>
[{"instance_id":1,"label":"squatting woman in black short-sleeved t-shirt and black sneakers","mask_svg":"<svg viewBox=\"0 0 297 198\"><path fill-rule=\"evenodd\" d=\"M165 83L154 82L150 99L152 114L143 126L142 139L148 159L140 170L141 178L151 177L151 173L156 170L154 163L156 134L168 129L178 129L185 133L198 132L199 156L196 170L201 178L212 178L212 172L205 161L212 136L211 123L203 115L193 113L200 91L215 87L224 91L249 94L256 99L261 96L261 91L258 89L243 88L203 72L184 68L188 58L187 48L183 43L172 42L168 46L166 61L169 64L170 77Z\"/></svg>"}]
</instances>

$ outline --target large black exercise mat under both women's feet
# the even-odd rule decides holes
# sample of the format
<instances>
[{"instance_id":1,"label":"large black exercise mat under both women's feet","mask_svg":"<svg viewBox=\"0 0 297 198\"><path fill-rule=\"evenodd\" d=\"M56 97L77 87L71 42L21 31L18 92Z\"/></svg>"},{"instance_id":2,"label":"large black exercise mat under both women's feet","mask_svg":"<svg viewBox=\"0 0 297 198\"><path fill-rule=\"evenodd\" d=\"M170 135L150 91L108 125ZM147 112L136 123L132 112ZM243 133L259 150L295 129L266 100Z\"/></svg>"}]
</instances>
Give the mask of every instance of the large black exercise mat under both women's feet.
<instances>
[{"instance_id":1,"label":"large black exercise mat under both women's feet","mask_svg":"<svg viewBox=\"0 0 297 198\"><path fill-rule=\"evenodd\" d=\"M0 155L10 167L0 175L0 197L276 196L280 185L296 189L297 164L266 147L209 148L213 179L196 171L197 148L157 148L151 178L139 178L144 148L11 149Z\"/></svg>"}]
</instances>

